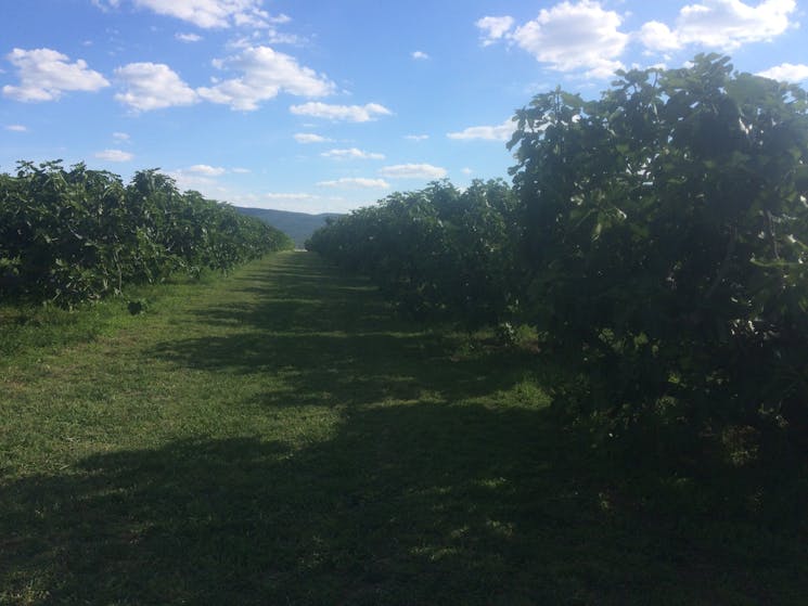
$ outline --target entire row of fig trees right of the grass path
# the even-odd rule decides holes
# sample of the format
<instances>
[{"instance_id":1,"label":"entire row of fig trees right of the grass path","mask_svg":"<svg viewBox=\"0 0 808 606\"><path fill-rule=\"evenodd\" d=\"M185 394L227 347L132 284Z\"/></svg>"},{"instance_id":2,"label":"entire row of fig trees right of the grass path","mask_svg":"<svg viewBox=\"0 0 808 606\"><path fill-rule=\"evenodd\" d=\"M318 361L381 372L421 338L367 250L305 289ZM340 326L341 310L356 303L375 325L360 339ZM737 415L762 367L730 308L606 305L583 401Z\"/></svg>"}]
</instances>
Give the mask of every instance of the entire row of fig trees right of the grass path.
<instances>
[{"instance_id":1,"label":"entire row of fig trees right of the grass path","mask_svg":"<svg viewBox=\"0 0 808 606\"><path fill-rule=\"evenodd\" d=\"M514 121L513 188L395 194L310 247L409 307L536 326L602 446L805 488L806 92L698 55Z\"/></svg>"}]
</instances>

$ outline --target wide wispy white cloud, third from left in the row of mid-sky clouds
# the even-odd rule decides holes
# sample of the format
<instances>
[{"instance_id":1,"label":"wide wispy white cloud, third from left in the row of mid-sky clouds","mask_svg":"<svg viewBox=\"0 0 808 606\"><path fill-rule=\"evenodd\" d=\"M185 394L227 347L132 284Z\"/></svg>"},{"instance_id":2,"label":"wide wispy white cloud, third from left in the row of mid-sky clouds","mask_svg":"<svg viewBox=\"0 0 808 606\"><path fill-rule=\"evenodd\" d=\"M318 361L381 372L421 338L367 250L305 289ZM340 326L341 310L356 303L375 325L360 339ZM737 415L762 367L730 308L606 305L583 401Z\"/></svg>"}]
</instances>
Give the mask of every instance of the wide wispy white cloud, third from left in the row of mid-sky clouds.
<instances>
[{"instance_id":1,"label":"wide wispy white cloud, third from left in the row of mid-sky clouds","mask_svg":"<svg viewBox=\"0 0 808 606\"><path fill-rule=\"evenodd\" d=\"M324 75L270 47L247 48L239 55L215 60L214 66L236 69L242 76L200 88L197 92L207 101L223 103L233 109L257 109L261 101L274 99L282 91L299 96L324 96L335 89Z\"/></svg>"}]
</instances>

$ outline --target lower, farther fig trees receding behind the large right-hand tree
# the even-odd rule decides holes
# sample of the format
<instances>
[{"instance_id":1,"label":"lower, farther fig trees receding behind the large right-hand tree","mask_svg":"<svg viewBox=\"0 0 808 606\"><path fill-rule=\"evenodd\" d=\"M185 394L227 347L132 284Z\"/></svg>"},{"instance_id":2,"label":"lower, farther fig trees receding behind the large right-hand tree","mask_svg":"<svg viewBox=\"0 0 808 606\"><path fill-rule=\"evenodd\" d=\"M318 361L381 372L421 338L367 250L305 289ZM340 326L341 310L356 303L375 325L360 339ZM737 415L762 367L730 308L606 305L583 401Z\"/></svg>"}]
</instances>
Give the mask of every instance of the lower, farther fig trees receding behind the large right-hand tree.
<instances>
[{"instance_id":1,"label":"lower, farther fig trees receding behind the large right-hand tree","mask_svg":"<svg viewBox=\"0 0 808 606\"><path fill-rule=\"evenodd\" d=\"M332 220L307 247L370 275L410 312L493 323L516 305L516 202L503 181L463 192L436 181Z\"/></svg>"}]
</instances>

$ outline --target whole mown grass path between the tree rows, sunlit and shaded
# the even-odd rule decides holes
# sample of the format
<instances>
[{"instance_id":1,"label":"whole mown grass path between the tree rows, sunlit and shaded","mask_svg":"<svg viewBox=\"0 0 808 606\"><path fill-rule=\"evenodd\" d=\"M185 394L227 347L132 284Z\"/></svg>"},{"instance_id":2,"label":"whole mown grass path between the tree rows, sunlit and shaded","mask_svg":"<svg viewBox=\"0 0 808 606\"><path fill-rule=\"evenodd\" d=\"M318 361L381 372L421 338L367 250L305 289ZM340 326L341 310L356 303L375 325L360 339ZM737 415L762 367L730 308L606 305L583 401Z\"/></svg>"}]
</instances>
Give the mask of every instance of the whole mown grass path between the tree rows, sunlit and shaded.
<instances>
[{"instance_id":1,"label":"whole mown grass path between the tree rows, sunlit and shaded","mask_svg":"<svg viewBox=\"0 0 808 606\"><path fill-rule=\"evenodd\" d=\"M804 534L621 502L528 350L306 253L140 296L7 311L1 604L805 604Z\"/></svg>"}]
</instances>

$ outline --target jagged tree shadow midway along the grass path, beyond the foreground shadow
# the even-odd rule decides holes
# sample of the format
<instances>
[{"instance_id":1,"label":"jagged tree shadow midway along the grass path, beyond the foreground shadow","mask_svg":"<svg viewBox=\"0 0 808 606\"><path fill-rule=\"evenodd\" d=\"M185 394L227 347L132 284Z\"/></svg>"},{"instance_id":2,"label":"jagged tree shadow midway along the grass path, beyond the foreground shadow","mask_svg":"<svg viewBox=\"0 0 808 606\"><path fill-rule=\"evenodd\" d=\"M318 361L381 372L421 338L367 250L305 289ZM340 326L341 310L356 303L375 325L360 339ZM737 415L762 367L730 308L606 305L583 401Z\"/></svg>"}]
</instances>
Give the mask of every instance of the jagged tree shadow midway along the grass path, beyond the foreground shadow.
<instances>
[{"instance_id":1,"label":"jagged tree shadow midway along the grass path, beyond the foreground shadow","mask_svg":"<svg viewBox=\"0 0 808 606\"><path fill-rule=\"evenodd\" d=\"M268 391L264 403L288 405L423 396L453 402L504 389L531 365L517 350L457 356L461 337L397 317L367 282L335 276L310 254L277 263L268 279L233 281L232 291L252 293L253 302L193 312L195 323L234 330L166 339L154 356L197 370L282 376L286 388Z\"/></svg>"}]
</instances>

